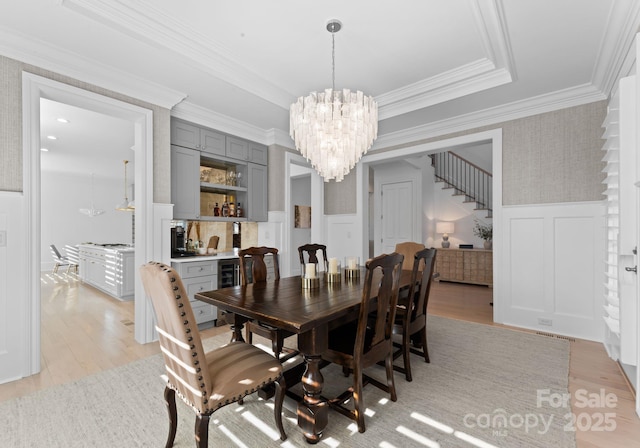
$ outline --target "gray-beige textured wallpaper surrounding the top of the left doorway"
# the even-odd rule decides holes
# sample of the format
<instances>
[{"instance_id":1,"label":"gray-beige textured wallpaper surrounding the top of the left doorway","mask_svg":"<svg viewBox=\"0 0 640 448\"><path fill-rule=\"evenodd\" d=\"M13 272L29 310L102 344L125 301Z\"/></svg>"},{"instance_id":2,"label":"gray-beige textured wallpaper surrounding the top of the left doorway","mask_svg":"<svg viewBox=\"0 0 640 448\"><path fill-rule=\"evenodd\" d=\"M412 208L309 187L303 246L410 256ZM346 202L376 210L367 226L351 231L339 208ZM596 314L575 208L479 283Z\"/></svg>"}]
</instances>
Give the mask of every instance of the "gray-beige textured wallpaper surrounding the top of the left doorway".
<instances>
[{"instance_id":1,"label":"gray-beige textured wallpaper surrounding the top of the left doorway","mask_svg":"<svg viewBox=\"0 0 640 448\"><path fill-rule=\"evenodd\" d=\"M22 72L53 79L153 111L153 197L171 203L170 111L135 98L0 56L0 191L22 188Z\"/></svg>"}]
</instances>

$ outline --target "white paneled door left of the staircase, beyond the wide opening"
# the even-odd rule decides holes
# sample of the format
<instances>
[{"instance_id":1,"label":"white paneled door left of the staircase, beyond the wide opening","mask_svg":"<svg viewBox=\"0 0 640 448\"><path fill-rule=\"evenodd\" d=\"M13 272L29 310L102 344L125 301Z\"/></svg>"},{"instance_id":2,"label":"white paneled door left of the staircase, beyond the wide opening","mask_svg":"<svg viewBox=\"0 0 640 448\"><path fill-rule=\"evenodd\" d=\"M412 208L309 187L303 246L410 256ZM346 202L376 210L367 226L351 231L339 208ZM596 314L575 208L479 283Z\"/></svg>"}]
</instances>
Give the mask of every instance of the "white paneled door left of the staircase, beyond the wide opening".
<instances>
[{"instance_id":1,"label":"white paneled door left of the staircase, beyond the wide opening","mask_svg":"<svg viewBox=\"0 0 640 448\"><path fill-rule=\"evenodd\" d=\"M397 243L413 241L416 204L412 181L388 182L380 185L380 245L376 255L389 254Z\"/></svg>"}]
</instances>

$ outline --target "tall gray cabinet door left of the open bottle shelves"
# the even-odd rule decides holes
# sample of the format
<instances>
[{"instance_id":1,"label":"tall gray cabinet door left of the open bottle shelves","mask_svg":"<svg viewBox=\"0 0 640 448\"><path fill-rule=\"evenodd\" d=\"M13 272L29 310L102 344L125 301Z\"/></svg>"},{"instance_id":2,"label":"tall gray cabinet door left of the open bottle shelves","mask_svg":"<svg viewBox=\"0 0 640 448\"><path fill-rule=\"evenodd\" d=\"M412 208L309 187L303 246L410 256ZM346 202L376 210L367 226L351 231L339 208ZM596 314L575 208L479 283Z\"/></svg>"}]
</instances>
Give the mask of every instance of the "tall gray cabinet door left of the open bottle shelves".
<instances>
[{"instance_id":1,"label":"tall gray cabinet door left of the open bottle shelves","mask_svg":"<svg viewBox=\"0 0 640 448\"><path fill-rule=\"evenodd\" d=\"M171 146L173 217L200 217L200 151Z\"/></svg>"}]
</instances>

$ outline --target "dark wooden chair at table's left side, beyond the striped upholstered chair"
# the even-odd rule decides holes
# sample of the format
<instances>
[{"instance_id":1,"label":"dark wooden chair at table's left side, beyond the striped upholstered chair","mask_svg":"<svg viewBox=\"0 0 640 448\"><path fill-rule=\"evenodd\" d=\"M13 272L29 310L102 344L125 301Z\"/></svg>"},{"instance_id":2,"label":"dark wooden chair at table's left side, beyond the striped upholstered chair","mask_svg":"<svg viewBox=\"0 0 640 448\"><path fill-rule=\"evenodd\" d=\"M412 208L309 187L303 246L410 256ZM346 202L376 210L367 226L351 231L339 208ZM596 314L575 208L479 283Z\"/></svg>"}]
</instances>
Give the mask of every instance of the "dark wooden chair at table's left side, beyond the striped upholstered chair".
<instances>
[{"instance_id":1,"label":"dark wooden chair at table's left side, beyond the striped upholstered chair","mask_svg":"<svg viewBox=\"0 0 640 448\"><path fill-rule=\"evenodd\" d=\"M247 249L241 249L238 252L240 258L240 284L247 285L250 283L249 278L252 279L251 283L266 282L268 277L268 269L265 263L265 256L271 256L273 260L273 280L280 280L280 265L278 264L278 249L275 247L249 247ZM251 263L249 263L251 260ZM251 271L249 271L251 270ZM251 277L249 276L251 273ZM247 342L253 343L253 334L262 336L263 338L271 341L271 349L277 358L281 362L285 362L288 359L293 358L298 354L297 351L285 348L284 340L289 336L293 336L295 333L282 330L274 326L268 325L264 322L250 320L245 323ZM282 352L285 354L280 357Z\"/></svg>"}]
</instances>

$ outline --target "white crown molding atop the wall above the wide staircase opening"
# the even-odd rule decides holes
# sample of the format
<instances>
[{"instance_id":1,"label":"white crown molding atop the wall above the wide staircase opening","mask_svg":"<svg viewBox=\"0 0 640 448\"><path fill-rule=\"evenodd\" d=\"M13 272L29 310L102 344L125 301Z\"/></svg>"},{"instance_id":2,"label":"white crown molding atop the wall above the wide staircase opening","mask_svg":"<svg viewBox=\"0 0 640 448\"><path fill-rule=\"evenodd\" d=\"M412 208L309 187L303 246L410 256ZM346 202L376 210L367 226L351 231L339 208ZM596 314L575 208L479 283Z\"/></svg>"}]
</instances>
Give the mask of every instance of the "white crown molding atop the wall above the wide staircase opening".
<instances>
[{"instance_id":1,"label":"white crown molding atop the wall above the wide staircase opening","mask_svg":"<svg viewBox=\"0 0 640 448\"><path fill-rule=\"evenodd\" d=\"M490 126L518 118L539 115L568 107L606 100L607 96L591 84L532 97L523 101L471 112L378 137L371 151L406 145L455 132Z\"/></svg>"}]
</instances>

